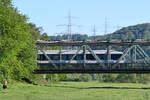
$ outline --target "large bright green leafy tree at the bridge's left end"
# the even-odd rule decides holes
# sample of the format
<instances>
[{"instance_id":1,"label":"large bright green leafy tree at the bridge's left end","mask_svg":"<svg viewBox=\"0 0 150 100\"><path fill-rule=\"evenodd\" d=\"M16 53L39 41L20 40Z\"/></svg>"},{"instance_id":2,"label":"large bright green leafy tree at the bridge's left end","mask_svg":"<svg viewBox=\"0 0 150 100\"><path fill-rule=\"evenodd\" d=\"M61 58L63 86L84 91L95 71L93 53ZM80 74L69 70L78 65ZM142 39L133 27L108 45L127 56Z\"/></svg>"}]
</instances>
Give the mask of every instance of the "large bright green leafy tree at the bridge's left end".
<instances>
[{"instance_id":1,"label":"large bright green leafy tree at the bridge's left end","mask_svg":"<svg viewBox=\"0 0 150 100\"><path fill-rule=\"evenodd\" d=\"M26 16L10 0L0 1L0 81L32 75L36 67L34 44Z\"/></svg>"}]
</instances>

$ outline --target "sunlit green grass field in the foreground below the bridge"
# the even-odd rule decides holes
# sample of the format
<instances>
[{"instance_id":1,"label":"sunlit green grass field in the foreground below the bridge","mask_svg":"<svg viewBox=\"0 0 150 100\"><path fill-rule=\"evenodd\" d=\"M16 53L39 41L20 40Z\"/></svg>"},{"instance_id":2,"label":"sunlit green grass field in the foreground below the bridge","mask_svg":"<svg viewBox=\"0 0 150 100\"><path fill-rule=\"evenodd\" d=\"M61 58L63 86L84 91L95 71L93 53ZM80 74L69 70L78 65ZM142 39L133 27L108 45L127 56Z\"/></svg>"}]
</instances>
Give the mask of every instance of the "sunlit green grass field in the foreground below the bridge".
<instances>
[{"instance_id":1,"label":"sunlit green grass field in the foreground below the bridge","mask_svg":"<svg viewBox=\"0 0 150 100\"><path fill-rule=\"evenodd\" d=\"M0 91L0 100L150 100L150 85L61 82L50 85L17 83Z\"/></svg>"}]
</instances>

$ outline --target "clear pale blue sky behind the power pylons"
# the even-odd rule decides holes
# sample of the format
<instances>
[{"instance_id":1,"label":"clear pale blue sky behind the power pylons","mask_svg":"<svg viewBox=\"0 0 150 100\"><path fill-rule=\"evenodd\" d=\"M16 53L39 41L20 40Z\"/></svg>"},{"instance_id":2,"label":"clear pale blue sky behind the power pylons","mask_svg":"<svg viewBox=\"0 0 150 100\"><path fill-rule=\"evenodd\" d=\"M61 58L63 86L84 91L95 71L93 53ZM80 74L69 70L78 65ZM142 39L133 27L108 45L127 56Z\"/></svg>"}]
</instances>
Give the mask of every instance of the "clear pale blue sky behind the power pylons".
<instances>
[{"instance_id":1,"label":"clear pale blue sky behind the power pylons","mask_svg":"<svg viewBox=\"0 0 150 100\"><path fill-rule=\"evenodd\" d=\"M73 33L92 35L92 26L96 26L96 35L104 34L105 19L107 33L120 27L150 22L150 0L13 0L15 7L30 18L30 22L41 26L49 35L66 32L69 11L72 23L81 25L72 27Z\"/></svg>"}]
</instances>

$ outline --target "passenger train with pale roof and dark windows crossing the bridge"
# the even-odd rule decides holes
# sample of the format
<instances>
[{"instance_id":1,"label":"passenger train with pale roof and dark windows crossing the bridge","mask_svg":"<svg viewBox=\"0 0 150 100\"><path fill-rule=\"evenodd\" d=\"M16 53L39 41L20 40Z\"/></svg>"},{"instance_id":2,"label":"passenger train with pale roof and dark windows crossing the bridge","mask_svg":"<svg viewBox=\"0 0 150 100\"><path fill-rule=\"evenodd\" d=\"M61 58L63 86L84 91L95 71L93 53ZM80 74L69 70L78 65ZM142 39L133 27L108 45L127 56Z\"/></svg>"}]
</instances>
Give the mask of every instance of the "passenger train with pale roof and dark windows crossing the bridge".
<instances>
[{"instance_id":1,"label":"passenger train with pale roof and dark windows crossing the bridge","mask_svg":"<svg viewBox=\"0 0 150 100\"><path fill-rule=\"evenodd\" d=\"M45 54L54 62L59 63L60 60L64 63L69 62L72 57L76 54L77 50L45 50ZM94 54L97 55L97 57L103 62L107 63L107 50L93 50ZM110 50L110 61L111 63L115 63L121 56L122 52ZM38 51L38 60L39 61L47 61L46 56L43 52ZM83 61L84 60L84 54L83 50L81 50L72 61ZM95 62L96 59L94 56L87 50L86 51L86 61L88 62ZM123 59L120 61L120 63L123 63Z\"/></svg>"}]
</instances>

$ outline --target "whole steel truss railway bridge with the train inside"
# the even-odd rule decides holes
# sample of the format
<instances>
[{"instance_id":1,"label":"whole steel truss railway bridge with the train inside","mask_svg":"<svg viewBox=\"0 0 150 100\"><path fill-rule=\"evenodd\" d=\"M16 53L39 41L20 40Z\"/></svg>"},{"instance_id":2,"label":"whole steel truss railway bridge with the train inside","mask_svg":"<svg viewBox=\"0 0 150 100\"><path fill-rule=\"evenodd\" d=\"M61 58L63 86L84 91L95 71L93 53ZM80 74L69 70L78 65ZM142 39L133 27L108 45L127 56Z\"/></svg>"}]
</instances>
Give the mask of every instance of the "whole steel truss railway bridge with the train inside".
<instances>
[{"instance_id":1,"label":"whole steel truss railway bridge with the train inside","mask_svg":"<svg viewBox=\"0 0 150 100\"><path fill-rule=\"evenodd\" d=\"M46 50L52 46L58 46L60 50L51 50L51 52ZM150 73L150 57L143 49L148 48L148 46L150 46L150 41L142 39L111 41L38 40L39 58L37 64L39 69L35 73ZM68 50L70 53L65 53L65 50L61 49L63 47L77 47L78 49ZM95 47L103 50L99 50L100 53L98 50L96 52L93 50Z\"/></svg>"}]
</instances>

